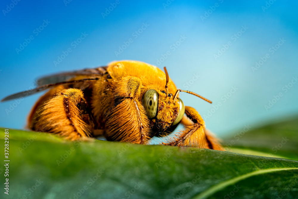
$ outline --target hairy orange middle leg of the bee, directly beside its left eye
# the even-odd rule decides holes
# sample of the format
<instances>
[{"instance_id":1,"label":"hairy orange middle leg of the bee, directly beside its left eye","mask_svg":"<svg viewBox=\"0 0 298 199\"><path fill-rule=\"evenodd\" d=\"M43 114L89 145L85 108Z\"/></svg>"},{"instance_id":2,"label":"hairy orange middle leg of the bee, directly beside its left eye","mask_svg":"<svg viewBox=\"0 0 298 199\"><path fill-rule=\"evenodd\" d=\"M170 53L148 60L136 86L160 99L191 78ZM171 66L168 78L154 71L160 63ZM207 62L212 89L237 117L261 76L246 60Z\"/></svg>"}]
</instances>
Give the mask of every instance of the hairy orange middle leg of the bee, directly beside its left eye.
<instances>
[{"instance_id":1,"label":"hairy orange middle leg of the bee, directly beside its left eye","mask_svg":"<svg viewBox=\"0 0 298 199\"><path fill-rule=\"evenodd\" d=\"M106 138L113 141L146 144L149 140L150 121L139 98L141 81L124 77L116 85L115 98L121 99L109 113Z\"/></svg>"}]
</instances>

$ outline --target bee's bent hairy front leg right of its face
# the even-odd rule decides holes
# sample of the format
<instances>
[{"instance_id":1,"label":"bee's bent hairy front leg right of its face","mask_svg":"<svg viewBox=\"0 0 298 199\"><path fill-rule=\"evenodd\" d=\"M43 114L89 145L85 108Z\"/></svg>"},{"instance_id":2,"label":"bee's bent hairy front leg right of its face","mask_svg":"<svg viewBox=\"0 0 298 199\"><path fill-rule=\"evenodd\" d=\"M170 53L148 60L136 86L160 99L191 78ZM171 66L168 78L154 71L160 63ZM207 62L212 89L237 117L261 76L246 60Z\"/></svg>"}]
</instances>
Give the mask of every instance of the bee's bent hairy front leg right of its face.
<instances>
[{"instance_id":1,"label":"bee's bent hairy front leg right of its face","mask_svg":"<svg viewBox=\"0 0 298 199\"><path fill-rule=\"evenodd\" d=\"M224 150L217 139L207 132L203 118L194 108L186 106L185 115L181 120L181 123L184 124L184 130L172 138L170 143L162 144Z\"/></svg>"}]
</instances>

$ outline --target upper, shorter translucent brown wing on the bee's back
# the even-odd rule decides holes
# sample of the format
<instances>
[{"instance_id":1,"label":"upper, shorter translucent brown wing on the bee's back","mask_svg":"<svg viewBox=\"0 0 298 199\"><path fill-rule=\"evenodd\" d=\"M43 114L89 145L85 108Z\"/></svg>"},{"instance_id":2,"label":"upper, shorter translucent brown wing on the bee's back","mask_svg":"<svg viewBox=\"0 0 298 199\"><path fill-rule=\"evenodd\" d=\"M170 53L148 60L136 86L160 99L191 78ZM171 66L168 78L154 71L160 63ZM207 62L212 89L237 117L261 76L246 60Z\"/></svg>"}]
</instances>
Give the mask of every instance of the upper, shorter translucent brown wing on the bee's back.
<instances>
[{"instance_id":1,"label":"upper, shorter translucent brown wing on the bee's back","mask_svg":"<svg viewBox=\"0 0 298 199\"><path fill-rule=\"evenodd\" d=\"M77 76L86 76L87 78L102 76L103 74L105 74L106 69L107 67L87 68L83 70L76 70L72 72L62 72L54 75L44 76L37 80L37 85L43 86L47 84L56 84L59 82L65 82Z\"/></svg>"}]
</instances>

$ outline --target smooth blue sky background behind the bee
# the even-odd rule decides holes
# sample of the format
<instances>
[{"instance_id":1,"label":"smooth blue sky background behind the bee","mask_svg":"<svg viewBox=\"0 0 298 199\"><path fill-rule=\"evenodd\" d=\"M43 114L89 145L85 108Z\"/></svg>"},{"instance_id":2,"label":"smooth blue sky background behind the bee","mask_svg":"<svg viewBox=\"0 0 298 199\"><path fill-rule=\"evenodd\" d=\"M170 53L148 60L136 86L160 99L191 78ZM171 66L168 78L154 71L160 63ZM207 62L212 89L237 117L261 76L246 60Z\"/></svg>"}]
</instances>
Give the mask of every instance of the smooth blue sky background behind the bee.
<instances>
[{"instance_id":1,"label":"smooth blue sky background behind the bee","mask_svg":"<svg viewBox=\"0 0 298 199\"><path fill-rule=\"evenodd\" d=\"M1 1L1 98L35 86L34 80L43 75L129 59L160 68L167 66L178 88L186 89L186 83L191 84L187 90L212 100L213 104L209 104L193 95L181 94L184 104L195 107L207 128L219 137L245 125L257 127L298 113L298 82L291 85L293 77L298 75L297 1L272 0L266 7L265 0L119 0L104 18L102 13L114 0L65 2L23 0L13 7L12 1ZM171 3L165 6L167 2ZM7 9L10 4L13 8ZM49 23L36 35L34 30L44 20ZM145 30L135 38L133 33L143 23L148 27L143 27ZM246 27L243 33L239 32L242 27ZM72 42L81 33L88 35L74 48ZM241 36L232 37L237 33ZM34 39L17 52L20 43L31 35ZM173 43L181 36L185 40L173 51ZM116 56L115 51L130 38L133 42ZM278 44L280 39L282 45ZM214 55L228 43L229 48L215 59ZM270 48L275 45L279 48L271 54ZM72 52L55 66L53 62L68 48ZM161 59L167 51L170 55ZM270 57L257 70L252 70L266 54ZM194 74L200 76L196 81L192 81ZM292 87L285 92L288 84ZM230 95L232 87L237 90ZM279 100L266 110L265 105L280 92ZM11 112L7 110L15 101L1 103L0 126L23 128L40 95L24 98ZM221 106L212 110L212 105L218 102ZM206 117L209 111L213 113Z\"/></svg>"}]
</instances>

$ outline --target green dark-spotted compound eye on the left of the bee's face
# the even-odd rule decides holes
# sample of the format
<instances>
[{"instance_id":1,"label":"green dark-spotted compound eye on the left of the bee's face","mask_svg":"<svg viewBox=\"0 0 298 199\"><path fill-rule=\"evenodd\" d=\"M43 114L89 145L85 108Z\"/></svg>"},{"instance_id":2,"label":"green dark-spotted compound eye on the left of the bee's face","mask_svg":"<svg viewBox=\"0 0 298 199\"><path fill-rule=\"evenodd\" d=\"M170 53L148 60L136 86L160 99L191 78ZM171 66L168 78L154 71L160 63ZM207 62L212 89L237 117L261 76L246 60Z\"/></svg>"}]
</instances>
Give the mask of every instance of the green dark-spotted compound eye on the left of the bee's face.
<instances>
[{"instance_id":1,"label":"green dark-spotted compound eye on the left of the bee's face","mask_svg":"<svg viewBox=\"0 0 298 199\"><path fill-rule=\"evenodd\" d=\"M147 112L148 118L154 118L157 115L158 92L154 89L146 91L142 98L142 104Z\"/></svg>"}]
</instances>

